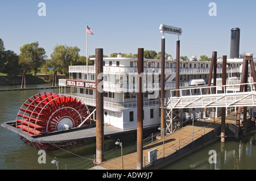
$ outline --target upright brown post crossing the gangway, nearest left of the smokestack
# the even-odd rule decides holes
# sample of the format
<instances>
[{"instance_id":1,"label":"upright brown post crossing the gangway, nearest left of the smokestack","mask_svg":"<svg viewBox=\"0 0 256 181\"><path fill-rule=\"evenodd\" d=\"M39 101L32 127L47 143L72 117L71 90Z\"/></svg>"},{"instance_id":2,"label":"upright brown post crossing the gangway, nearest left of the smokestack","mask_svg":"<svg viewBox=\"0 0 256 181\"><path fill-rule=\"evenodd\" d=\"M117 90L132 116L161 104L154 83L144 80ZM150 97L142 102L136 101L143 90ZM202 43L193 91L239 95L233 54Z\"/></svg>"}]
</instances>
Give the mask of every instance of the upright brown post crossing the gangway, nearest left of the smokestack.
<instances>
[{"instance_id":1,"label":"upright brown post crossing the gangway, nearest left of the smokestack","mask_svg":"<svg viewBox=\"0 0 256 181\"><path fill-rule=\"evenodd\" d=\"M222 57L222 94L226 92L226 56ZM221 142L225 142L226 107L221 108Z\"/></svg>"}]
</instances>

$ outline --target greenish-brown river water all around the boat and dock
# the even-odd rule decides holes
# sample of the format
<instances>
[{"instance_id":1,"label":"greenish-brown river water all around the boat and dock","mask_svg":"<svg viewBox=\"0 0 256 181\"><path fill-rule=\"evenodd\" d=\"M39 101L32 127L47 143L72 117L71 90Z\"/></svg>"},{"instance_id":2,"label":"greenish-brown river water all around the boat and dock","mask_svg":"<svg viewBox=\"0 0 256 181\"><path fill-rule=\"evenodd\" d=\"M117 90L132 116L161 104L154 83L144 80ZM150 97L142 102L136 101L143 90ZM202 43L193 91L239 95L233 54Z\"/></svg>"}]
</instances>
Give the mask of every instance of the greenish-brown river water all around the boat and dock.
<instances>
[{"instance_id":1,"label":"greenish-brown river water all around the boat and dock","mask_svg":"<svg viewBox=\"0 0 256 181\"><path fill-rule=\"evenodd\" d=\"M47 87L46 85L28 85L27 87ZM0 86L0 89L14 89L20 86ZM20 106L30 96L39 92L59 92L59 89L47 90L26 90L26 91L2 91L0 92L0 123L16 119ZM93 158L96 152L94 140L80 143L66 148L58 148L55 151L46 151L46 163L39 163L40 153L33 146L25 144L19 136L5 128L0 127L0 169L1 170L54 170L57 169L51 161L56 157L59 161L59 169L77 170L88 169L94 166ZM105 140L106 159L121 155L119 146L115 140ZM135 140L123 142L123 154L135 149ZM210 162L213 154L209 151L216 151L214 161ZM212 161L212 159L211 159ZM233 138L226 139L225 144L220 141L213 142L202 149L195 151L162 168L171 169L256 169L256 131L247 132L246 136L239 140Z\"/></svg>"}]
</instances>

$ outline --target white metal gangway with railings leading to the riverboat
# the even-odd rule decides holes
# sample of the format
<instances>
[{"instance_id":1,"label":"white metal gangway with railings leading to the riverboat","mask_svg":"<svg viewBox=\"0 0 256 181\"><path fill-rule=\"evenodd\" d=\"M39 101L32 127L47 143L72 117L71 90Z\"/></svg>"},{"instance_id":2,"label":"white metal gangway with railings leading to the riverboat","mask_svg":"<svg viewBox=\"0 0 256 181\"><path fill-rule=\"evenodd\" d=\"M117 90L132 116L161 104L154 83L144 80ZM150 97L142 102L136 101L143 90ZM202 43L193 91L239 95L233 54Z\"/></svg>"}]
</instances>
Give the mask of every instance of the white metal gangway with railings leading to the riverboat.
<instances>
[{"instance_id":1,"label":"white metal gangway with railings leading to the riverboat","mask_svg":"<svg viewBox=\"0 0 256 181\"><path fill-rule=\"evenodd\" d=\"M247 85L246 92L240 92L240 86ZM176 90L170 90L171 96L166 104L167 109L172 108L203 108L203 107L238 107L255 106L256 91L255 82L240 83L236 85L194 87L188 89L179 89L179 97L175 95ZM213 89L216 89L213 92ZM224 93L222 93L224 88ZM195 89L199 89L200 94L193 95ZM210 89L209 94L204 94L203 89ZM219 90L219 91L218 91ZM198 92L198 91L197 91Z\"/></svg>"}]
</instances>

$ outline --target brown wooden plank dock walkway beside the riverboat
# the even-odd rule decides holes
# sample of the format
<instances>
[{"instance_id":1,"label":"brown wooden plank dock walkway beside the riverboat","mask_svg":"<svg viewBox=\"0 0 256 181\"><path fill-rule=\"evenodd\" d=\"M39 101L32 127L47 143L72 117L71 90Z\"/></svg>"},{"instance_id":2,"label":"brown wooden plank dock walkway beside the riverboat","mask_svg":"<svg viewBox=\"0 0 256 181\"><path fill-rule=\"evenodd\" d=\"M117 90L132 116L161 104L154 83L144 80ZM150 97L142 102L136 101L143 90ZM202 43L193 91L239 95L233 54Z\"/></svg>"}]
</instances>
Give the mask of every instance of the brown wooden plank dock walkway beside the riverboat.
<instances>
[{"instance_id":1,"label":"brown wooden plank dock walkway beside the riverboat","mask_svg":"<svg viewBox=\"0 0 256 181\"><path fill-rule=\"evenodd\" d=\"M233 115L226 116L226 125L234 124L235 117ZM221 118L210 119L207 121L198 120L192 125L187 125L172 134L164 137L164 152L163 138L143 146L143 169L160 169L168 163L192 153L193 151L202 148L210 142L220 139L220 133L215 133L216 129L220 131ZM193 131L193 134L192 134ZM211 134L209 136L209 134ZM157 149L157 160L154 163L148 162L148 151ZM90 170L121 170L122 158L117 157L110 159L92 167ZM137 169L137 152L123 155L123 169Z\"/></svg>"}]
</instances>

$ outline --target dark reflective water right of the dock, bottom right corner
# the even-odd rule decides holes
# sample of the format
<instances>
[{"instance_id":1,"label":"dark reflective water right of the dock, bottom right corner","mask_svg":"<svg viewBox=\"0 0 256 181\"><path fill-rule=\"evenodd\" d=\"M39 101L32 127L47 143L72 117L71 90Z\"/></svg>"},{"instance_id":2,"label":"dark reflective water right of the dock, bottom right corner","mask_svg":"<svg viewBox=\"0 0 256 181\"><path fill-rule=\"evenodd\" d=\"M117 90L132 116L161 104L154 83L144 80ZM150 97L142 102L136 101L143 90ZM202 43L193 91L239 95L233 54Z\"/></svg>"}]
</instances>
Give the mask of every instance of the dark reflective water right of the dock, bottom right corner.
<instances>
[{"instance_id":1,"label":"dark reflective water right of the dock, bottom right corner","mask_svg":"<svg viewBox=\"0 0 256 181\"><path fill-rule=\"evenodd\" d=\"M211 163L210 150L215 150L216 163ZM210 161L209 161L210 159ZM219 140L195 151L162 169L189 170L249 170L256 169L256 131L252 130L241 140Z\"/></svg>"}]
</instances>

